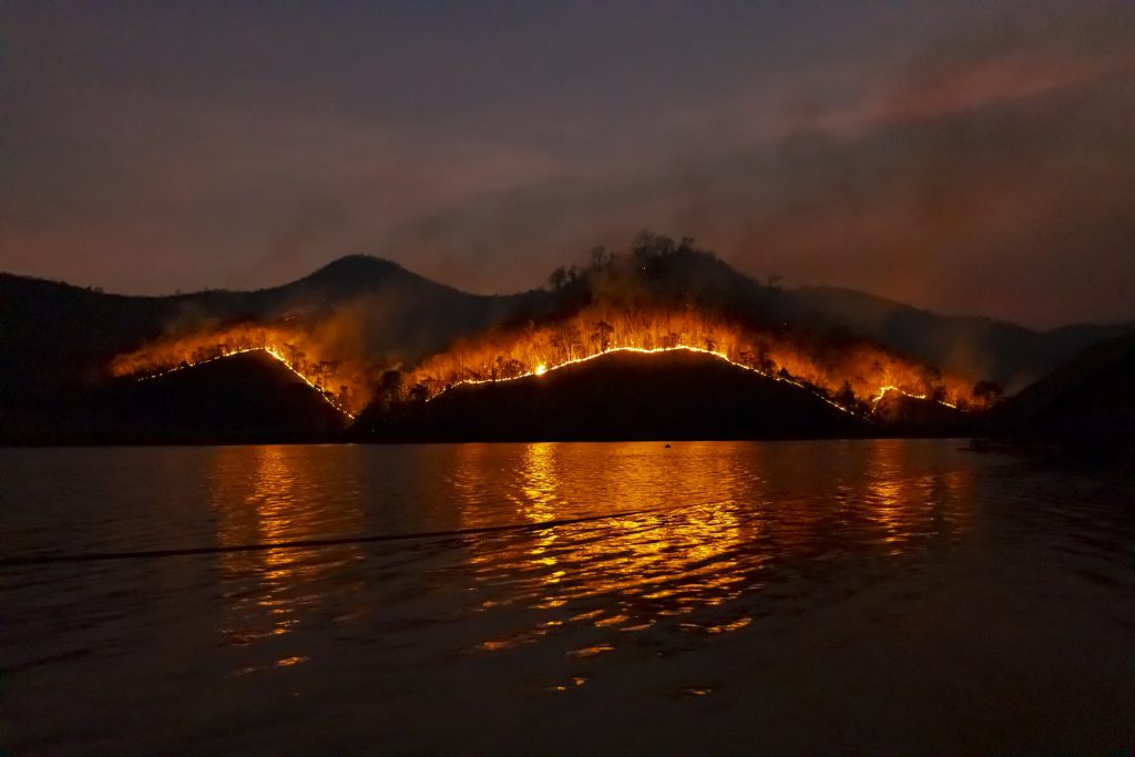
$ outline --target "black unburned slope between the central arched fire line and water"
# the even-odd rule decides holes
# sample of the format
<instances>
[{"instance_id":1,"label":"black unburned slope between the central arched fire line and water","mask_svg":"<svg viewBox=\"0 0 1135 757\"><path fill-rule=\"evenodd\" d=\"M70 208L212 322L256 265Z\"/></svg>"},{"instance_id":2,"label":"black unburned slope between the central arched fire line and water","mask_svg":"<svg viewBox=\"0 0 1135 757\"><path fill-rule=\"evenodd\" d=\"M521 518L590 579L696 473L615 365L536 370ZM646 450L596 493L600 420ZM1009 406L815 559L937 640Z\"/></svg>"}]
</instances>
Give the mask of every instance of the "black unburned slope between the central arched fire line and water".
<instances>
[{"instance_id":1,"label":"black unburned slope between the central arched fire line and water","mask_svg":"<svg viewBox=\"0 0 1135 757\"><path fill-rule=\"evenodd\" d=\"M791 439L880 429L816 395L718 358L609 353L544 376L465 385L359 417L363 440Z\"/></svg>"}]
</instances>

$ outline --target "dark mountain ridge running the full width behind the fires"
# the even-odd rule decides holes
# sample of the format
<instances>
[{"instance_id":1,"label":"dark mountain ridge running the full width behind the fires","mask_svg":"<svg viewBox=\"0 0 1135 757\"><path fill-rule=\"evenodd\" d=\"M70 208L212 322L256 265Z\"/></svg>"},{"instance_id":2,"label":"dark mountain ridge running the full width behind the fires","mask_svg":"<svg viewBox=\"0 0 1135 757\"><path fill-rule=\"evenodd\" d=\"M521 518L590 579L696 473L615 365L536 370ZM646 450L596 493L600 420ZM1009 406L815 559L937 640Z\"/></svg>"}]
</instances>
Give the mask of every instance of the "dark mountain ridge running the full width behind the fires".
<instances>
[{"instance_id":1,"label":"dark mountain ridge running the full width behind the fires","mask_svg":"<svg viewBox=\"0 0 1135 757\"><path fill-rule=\"evenodd\" d=\"M656 269L649 271L644 264L647 272L633 284L644 291L661 286L664 296L679 297L675 302L717 298L739 303L767 321L871 338L932 365L993 379L1009 393L1090 344L1132 328L1130 323L1077 323L1036 331L981 316L941 316L855 289L783 289L760 284L712 253L686 246L688 241L675 246L666 237L647 234L644 238L648 243L661 239L678 252L689 250L689 254L654 259L649 264ZM174 295L104 293L0 274L5 312L0 409L23 396L103 380L114 355L154 339L241 322L303 322L320 338L350 342L355 351L380 359L380 364L413 364L502 323L522 326L577 306L572 303L579 297L595 296L581 288L591 286L585 278L588 271L596 274L598 286L606 286L603 267L592 262L582 270L560 269L561 284L550 291L507 295L463 292L367 254L335 259L305 277L274 287Z\"/></svg>"}]
</instances>

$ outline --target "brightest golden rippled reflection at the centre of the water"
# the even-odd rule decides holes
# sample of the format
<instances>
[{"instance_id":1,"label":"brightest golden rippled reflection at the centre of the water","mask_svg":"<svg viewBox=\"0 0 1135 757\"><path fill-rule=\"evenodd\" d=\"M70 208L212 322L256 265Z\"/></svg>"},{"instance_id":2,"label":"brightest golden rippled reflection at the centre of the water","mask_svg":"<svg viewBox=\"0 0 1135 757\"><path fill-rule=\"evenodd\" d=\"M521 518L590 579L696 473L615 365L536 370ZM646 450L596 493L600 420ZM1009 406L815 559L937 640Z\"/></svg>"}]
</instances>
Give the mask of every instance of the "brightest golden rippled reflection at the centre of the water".
<instances>
[{"instance_id":1,"label":"brightest golden rippled reflection at the centre of the water","mask_svg":"<svg viewBox=\"0 0 1135 757\"><path fill-rule=\"evenodd\" d=\"M550 611L570 604L578 609L568 616L568 623L633 631L649 628L662 616L684 615L737 597L748 578L738 570L735 552L757 533L757 523L742 524L737 510L755 499L748 478L721 470L720 446L684 444L666 457L629 454L581 464L573 459L575 453L602 446L518 445L521 452L506 495L515 506L518 522L585 516L588 505L597 502L611 503L616 512L628 514L568 523L520 538L479 541L470 555L477 578L489 584L508 583L508 595L493 598L486 606L520 602ZM633 445L609 447L625 451ZM459 460L474 466L479 457L470 452ZM463 470L459 478L469 481L490 476L489 471ZM678 503L662 496L666 487L658 483L665 481L681 481L683 488L697 491L701 504L675 507ZM478 503L464 504L465 525L484 524ZM617 602L591 608L599 597ZM482 648L530 641L563 623L543 621L487 641ZM714 628L720 632L746 623L734 617L715 621Z\"/></svg>"}]
</instances>

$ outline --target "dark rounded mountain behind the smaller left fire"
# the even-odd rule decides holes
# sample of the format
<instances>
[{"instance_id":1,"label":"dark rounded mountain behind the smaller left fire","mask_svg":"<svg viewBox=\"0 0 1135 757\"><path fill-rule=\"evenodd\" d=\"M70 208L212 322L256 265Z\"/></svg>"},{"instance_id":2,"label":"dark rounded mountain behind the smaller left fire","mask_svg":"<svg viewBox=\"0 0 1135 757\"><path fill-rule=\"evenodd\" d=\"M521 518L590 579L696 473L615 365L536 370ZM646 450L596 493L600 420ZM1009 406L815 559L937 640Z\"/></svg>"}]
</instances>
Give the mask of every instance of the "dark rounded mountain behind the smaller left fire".
<instances>
[{"instance_id":1,"label":"dark rounded mountain behind the smaller left fire","mask_svg":"<svg viewBox=\"0 0 1135 757\"><path fill-rule=\"evenodd\" d=\"M303 320L388 362L412 361L539 297L466 294L364 255L279 287L154 297L0 274L0 409L98 385L116 354L163 336Z\"/></svg>"}]
</instances>

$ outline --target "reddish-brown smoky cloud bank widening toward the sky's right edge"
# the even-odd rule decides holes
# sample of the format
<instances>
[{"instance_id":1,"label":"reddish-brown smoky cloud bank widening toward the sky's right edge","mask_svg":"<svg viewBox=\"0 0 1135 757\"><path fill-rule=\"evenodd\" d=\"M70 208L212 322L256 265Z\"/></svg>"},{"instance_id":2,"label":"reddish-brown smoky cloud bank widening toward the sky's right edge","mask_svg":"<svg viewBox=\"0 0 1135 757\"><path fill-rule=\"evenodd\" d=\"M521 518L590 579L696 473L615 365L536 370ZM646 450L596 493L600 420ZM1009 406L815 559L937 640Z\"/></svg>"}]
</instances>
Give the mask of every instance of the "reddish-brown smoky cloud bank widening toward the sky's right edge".
<instances>
[{"instance_id":1,"label":"reddish-brown smoky cloud bank widening toward the sky's right edge","mask_svg":"<svg viewBox=\"0 0 1135 757\"><path fill-rule=\"evenodd\" d=\"M779 132L766 118L757 144L484 193L387 238L468 254L435 272L486 261L464 275L482 291L648 226L796 284L1040 326L1129 319L1135 28L1121 10L1073 22L962 30L885 84L788 109Z\"/></svg>"}]
</instances>

